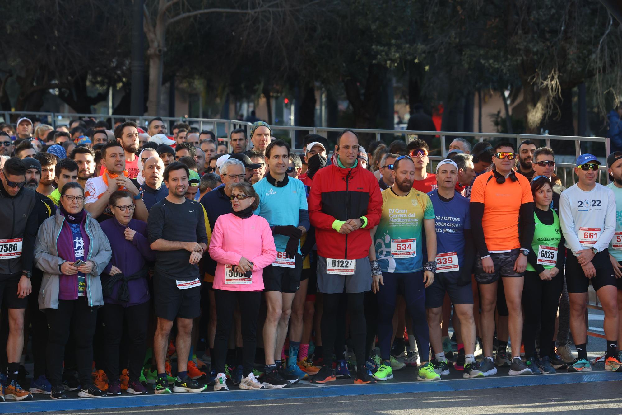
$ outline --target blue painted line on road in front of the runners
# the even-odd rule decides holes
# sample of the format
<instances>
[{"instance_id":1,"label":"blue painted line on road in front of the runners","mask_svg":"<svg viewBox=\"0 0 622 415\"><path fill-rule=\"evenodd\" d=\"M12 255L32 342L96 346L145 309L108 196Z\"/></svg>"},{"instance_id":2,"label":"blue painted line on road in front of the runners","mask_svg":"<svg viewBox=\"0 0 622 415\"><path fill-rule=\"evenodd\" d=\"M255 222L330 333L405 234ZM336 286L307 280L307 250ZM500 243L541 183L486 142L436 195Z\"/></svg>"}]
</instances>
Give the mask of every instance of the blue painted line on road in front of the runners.
<instances>
[{"instance_id":1,"label":"blue painted line on road in front of the runners","mask_svg":"<svg viewBox=\"0 0 622 415\"><path fill-rule=\"evenodd\" d=\"M0 405L0 414L88 411L93 409L141 408L184 404L227 403L233 401L266 401L270 399L334 398L389 393L452 392L473 389L508 388L512 386L547 386L554 384L590 383L622 380L622 375L611 372L563 373L531 376L499 376L484 379L452 379L435 382L378 383L367 385L335 385L262 389L259 391L223 391L220 393L174 393L160 395L115 396L107 398L37 399L30 402L7 402Z\"/></svg>"}]
</instances>

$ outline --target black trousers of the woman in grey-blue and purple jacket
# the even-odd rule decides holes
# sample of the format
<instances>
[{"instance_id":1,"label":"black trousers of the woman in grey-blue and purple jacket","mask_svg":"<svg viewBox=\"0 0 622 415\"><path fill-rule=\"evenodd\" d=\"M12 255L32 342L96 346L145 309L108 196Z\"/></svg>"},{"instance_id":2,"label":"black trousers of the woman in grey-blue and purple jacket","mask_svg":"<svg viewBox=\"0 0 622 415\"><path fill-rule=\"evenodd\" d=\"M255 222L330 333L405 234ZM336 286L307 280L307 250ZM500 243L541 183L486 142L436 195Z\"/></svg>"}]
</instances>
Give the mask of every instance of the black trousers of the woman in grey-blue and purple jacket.
<instances>
[{"instance_id":1,"label":"black trousers of the woman in grey-blue and purple jacket","mask_svg":"<svg viewBox=\"0 0 622 415\"><path fill-rule=\"evenodd\" d=\"M78 300L58 300L58 308L47 308L48 342L47 371L52 386L60 386L63 381L63 360L65 344L69 340L70 327L73 328L75 355L78 365L78 378L82 388L93 383L93 334L97 322L97 308L90 307L86 297Z\"/></svg>"}]
</instances>

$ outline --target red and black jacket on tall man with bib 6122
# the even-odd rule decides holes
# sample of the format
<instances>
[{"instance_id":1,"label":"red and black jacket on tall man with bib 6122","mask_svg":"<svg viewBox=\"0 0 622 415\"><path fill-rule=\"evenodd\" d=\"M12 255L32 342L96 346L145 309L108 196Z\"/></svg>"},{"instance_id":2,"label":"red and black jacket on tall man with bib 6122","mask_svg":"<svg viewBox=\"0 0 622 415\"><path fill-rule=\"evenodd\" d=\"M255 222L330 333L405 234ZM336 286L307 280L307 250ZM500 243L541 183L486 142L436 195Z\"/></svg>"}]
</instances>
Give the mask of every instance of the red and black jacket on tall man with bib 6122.
<instances>
[{"instance_id":1,"label":"red and black jacket on tall man with bib 6122","mask_svg":"<svg viewBox=\"0 0 622 415\"><path fill-rule=\"evenodd\" d=\"M361 259L369 254L369 231L380 222L383 198L378 180L358 164L341 168L337 155L332 165L315 173L309 194L309 217L315 226L317 253L325 258ZM350 234L340 234L333 222L365 216L367 225Z\"/></svg>"}]
</instances>

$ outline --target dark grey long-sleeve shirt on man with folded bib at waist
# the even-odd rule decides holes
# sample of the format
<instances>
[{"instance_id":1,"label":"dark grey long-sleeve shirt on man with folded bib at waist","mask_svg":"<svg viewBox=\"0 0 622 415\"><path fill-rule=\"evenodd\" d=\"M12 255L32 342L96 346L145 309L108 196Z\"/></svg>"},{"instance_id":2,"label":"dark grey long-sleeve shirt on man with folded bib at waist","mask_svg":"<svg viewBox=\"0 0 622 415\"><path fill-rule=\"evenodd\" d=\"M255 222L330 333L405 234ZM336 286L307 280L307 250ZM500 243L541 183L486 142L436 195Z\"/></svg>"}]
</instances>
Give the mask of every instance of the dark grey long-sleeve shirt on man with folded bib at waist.
<instances>
[{"instance_id":1,"label":"dark grey long-sleeve shirt on man with folded bib at waist","mask_svg":"<svg viewBox=\"0 0 622 415\"><path fill-rule=\"evenodd\" d=\"M147 222L149 243L164 239L172 242L203 242L207 245L203 207L185 199L177 204L162 199L149 211ZM157 254L156 274L180 281L198 278L198 265L190 264L190 252L185 249L162 250Z\"/></svg>"}]
</instances>

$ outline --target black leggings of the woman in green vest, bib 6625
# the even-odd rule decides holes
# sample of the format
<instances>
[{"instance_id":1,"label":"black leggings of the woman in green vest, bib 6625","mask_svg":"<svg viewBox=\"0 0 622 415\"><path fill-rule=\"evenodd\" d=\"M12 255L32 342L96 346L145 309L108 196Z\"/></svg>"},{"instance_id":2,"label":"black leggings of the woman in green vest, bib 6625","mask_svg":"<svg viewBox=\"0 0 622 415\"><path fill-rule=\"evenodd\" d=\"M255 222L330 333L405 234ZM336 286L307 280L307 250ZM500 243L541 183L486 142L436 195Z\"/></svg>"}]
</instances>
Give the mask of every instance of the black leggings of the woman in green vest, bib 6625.
<instances>
[{"instance_id":1,"label":"black leggings of the woman in green vest, bib 6625","mask_svg":"<svg viewBox=\"0 0 622 415\"><path fill-rule=\"evenodd\" d=\"M538 273L525 271L525 284L522 289L522 306L525 312L522 326L522 341L525 357L536 358L536 332L540 326L540 356L552 356L555 317L559 297L564 287L564 274L561 272L550 281L541 280Z\"/></svg>"}]
</instances>

